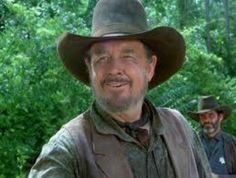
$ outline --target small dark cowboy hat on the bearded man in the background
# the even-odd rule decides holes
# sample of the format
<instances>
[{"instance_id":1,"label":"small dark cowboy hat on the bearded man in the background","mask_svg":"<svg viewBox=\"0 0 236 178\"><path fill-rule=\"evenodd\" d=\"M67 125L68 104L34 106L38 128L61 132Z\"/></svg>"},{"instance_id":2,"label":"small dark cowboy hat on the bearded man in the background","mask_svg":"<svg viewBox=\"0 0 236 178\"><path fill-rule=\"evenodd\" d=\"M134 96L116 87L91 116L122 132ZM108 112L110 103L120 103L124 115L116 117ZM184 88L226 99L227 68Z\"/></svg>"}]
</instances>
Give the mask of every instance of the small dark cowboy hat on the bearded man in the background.
<instances>
[{"instance_id":1,"label":"small dark cowboy hat on the bearded man in the background","mask_svg":"<svg viewBox=\"0 0 236 178\"><path fill-rule=\"evenodd\" d=\"M214 96L201 96L198 99L198 111L188 112L188 115L196 121L199 121L199 114L209 112L209 111L218 111L224 114L224 119L226 119L232 109L228 105L219 105Z\"/></svg>"}]
</instances>

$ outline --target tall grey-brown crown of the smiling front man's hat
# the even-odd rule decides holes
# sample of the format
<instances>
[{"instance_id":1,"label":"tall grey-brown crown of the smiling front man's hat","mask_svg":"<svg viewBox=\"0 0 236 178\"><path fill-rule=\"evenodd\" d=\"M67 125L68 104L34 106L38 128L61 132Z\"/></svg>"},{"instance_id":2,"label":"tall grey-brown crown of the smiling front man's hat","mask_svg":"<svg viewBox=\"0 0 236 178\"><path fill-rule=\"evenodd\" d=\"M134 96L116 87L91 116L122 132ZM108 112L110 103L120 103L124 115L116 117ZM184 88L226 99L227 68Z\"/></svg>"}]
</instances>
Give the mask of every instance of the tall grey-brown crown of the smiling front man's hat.
<instances>
[{"instance_id":1,"label":"tall grey-brown crown of the smiling front man's hat","mask_svg":"<svg viewBox=\"0 0 236 178\"><path fill-rule=\"evenodd\" d=\"M146 14L138 0L99 0L94 8L91 36L135 34L146 30Z\"/></svg>"}]
</instances>

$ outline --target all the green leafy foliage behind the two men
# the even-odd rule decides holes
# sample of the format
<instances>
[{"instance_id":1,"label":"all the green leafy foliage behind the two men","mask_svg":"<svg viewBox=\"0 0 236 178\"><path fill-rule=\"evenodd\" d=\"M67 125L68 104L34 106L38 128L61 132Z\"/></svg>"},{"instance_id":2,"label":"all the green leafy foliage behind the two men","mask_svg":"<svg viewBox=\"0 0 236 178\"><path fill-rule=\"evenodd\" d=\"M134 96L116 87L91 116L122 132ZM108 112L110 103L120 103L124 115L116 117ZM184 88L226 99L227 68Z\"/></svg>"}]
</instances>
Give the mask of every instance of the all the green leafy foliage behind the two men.
<instances>
[{"instance_id":1,"label":"all the green leafy foliage behind the two men","mask_svg":"<svg viewBox=\"0 0 236 178\"><path fill-rule=\"evenodd\" d=\"M221 5L217 2L212 8L219 17L222 10L217 11ZM25 177L50 136L90 105L90 89L63 68L56 44L64 31L89 35L95 3L96 0L0 2L0 178ZM151 90L148 97L157 106L177 108L187 118L187 111L196 110L199 95L214 94L222 103L236 105L236 79L232 72L236 71L236 45L231 44L232 58L230 63L225 62L222 18L211 26L213 53L208 54L201 1L143 3L151 27L170 25L182 29L187 44L181 71ZM230 7L235 5L231 2ZM231 37L235 39L235 33ZM223 126L234 135L235 114L234 111Z\"/></svg>"}]
</instances>

